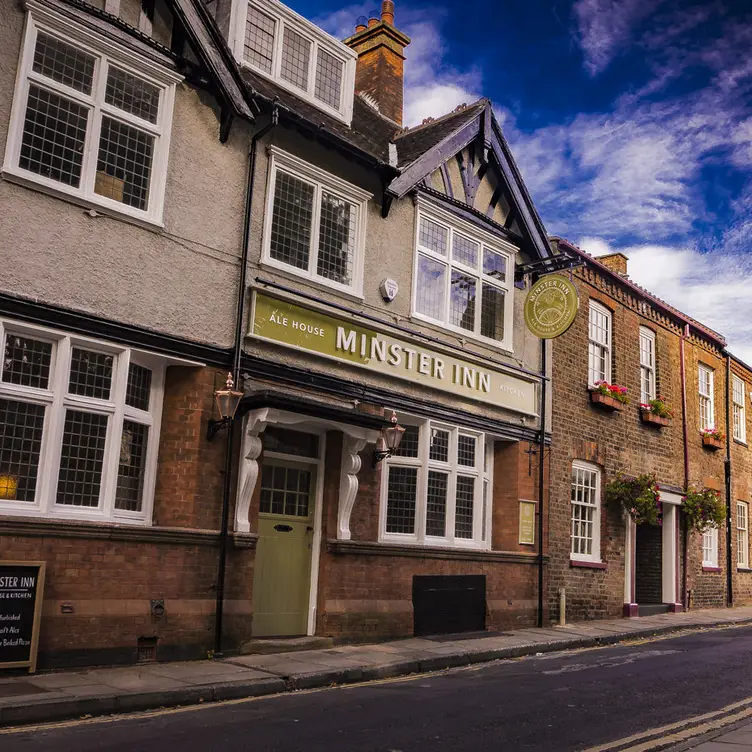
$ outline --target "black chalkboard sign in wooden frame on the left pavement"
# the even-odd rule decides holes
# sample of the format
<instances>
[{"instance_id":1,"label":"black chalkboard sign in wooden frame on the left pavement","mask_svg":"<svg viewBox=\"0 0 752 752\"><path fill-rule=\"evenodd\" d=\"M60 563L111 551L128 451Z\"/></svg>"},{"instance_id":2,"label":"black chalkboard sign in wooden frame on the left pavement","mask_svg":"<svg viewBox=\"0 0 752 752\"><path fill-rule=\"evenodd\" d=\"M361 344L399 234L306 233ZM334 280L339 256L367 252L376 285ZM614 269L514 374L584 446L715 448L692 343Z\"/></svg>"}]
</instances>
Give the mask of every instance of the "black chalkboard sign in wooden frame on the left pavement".
<instances>
[{"instance_id":1,"label":"black chalkboard sign in wooden frame on the left pavement","mask_svg":"<svg viewBox=\"0 0 752 752\"><path fill-rule=\"evenodd\" d=\"M37 667L43 561L0 561L0 669Z\"/></svg>"}]
</instances>

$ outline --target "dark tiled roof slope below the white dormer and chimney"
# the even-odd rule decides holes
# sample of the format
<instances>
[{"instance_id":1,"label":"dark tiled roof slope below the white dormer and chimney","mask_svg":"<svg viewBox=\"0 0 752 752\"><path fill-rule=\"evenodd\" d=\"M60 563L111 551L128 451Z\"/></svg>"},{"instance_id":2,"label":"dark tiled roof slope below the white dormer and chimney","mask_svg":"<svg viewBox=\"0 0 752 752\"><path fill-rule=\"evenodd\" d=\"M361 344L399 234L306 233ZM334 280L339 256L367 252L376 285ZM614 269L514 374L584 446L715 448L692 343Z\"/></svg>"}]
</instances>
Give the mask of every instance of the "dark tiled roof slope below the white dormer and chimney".
<instances>
[{"instance_id":1,"label":"dark tiled roof slope below the white dormer and chimney","mask_svg":"<svg viewBox=\"0 0 752 752\"><path fill-rule=\"evenodd\" d=\"M242 66L241 75L253 94L267 102L277 102L290 113L299 115L312 128L334 135L363 156L384 165L389 164L389 144L399 126L379 114L361 96L355 95L352 123L348 126L246 66Z\"/></svg>"}]
</instances>

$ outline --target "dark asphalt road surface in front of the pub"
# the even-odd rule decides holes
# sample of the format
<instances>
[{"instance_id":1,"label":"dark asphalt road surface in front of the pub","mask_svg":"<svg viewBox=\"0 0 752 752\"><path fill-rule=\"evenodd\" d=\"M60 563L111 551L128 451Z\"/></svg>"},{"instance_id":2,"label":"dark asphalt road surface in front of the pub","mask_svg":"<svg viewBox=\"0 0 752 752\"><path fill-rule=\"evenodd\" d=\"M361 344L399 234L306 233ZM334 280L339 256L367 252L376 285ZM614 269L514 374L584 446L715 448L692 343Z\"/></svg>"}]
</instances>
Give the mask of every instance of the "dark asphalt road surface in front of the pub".
<instances>
[{"instance_id":1,"label":"dark asphalt road surface in front of the pub","mask_svg":"<svg viewBox=\"0 0 752 752\"><path fill-rule=\"evenodd\" d=\"M752 696L752 627L0 734L2 752L569 752Z\"/></svg>"}]
</instances>

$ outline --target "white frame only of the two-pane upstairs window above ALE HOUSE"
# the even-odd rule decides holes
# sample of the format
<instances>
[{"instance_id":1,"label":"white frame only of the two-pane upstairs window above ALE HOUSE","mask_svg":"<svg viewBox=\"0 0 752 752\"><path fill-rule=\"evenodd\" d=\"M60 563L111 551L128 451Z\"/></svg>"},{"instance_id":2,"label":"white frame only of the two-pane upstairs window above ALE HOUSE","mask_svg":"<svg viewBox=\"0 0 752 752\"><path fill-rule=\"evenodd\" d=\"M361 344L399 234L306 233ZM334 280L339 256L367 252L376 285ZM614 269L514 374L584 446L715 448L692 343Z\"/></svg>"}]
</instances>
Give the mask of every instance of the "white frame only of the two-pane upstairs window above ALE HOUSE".
<instances>
[{"instance_id":1,"label":"white frame only of the two-pane upstairs window above ALE HOUSE","mask_svg":"<svg viewBox=\"0 0 752 752\"><path fill-rule=\"evenodd\" d=\"M347 183L328 172L324 172L302 159L282 151L275 146L269 150L269 171L266 186L266 211L264 215L264 237L261 262L275 269L307 279L311 283L334 288L341 292L363 297L363 257L365 255L366 215L368 201L373 194ZM311 245L308 256L308 269L299 269L292 264L285 264L271 256L272 220L274 215L274 193L277 174L282 171L297 180L304 181L314 188L313 214L311 217ZM321 277L316 273L319 253L319 222L321 218L321 192L325 190L349 203L355 204L356 227L353 248L352 284L342 285L332 279Z\"/></svg>"}]
</instances>

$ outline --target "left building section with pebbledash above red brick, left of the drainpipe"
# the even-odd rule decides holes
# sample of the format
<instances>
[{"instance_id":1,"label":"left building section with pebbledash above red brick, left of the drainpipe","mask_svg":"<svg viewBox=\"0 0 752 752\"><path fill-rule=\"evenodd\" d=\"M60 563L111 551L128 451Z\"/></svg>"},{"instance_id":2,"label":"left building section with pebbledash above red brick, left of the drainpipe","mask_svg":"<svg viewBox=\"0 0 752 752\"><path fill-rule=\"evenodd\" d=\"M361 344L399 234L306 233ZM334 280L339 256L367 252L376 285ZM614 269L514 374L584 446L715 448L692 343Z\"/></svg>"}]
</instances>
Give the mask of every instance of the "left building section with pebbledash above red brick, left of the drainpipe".
<instances>
[{"instance_id":1,"label":"left building section with pebbledash above red brick, left of the drainpipe","mask_svg":"<svg viewBox=\"0 0 752 752\"><path fill-rule=\"evenodd\" d=\"M0 18L0 560L47 564L43 667L205 655L245 85L194 0Z\"/></svg>"}]
</instances>

